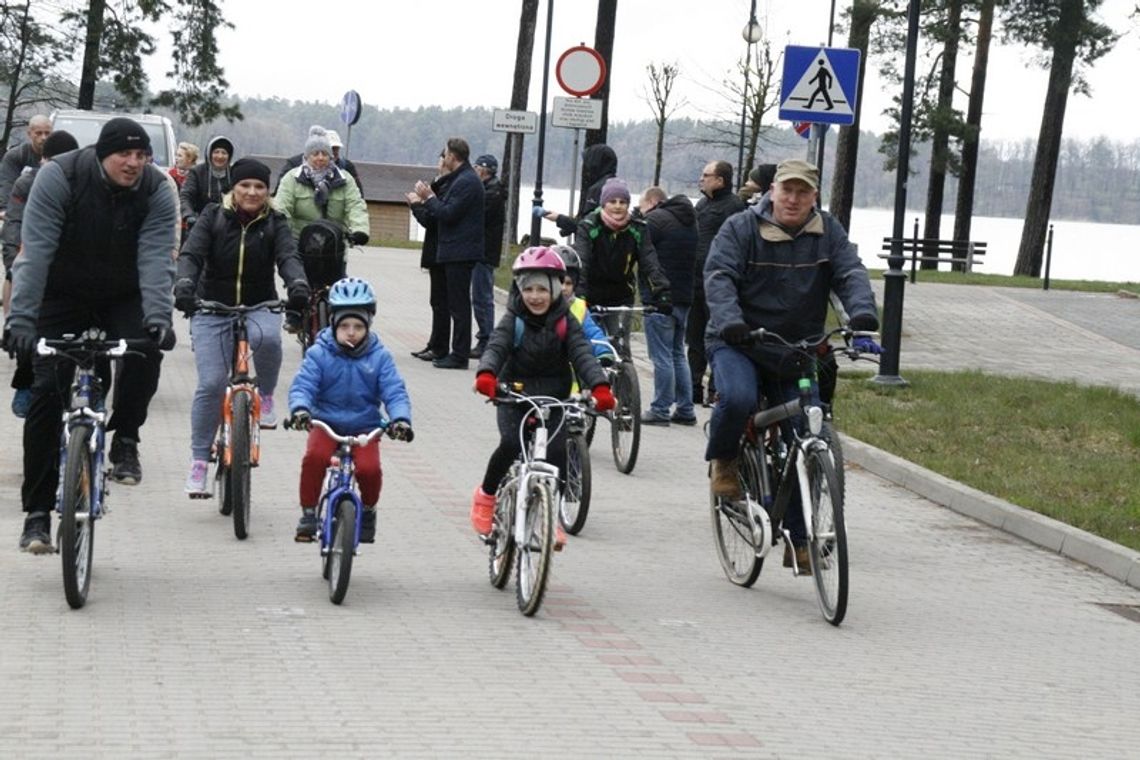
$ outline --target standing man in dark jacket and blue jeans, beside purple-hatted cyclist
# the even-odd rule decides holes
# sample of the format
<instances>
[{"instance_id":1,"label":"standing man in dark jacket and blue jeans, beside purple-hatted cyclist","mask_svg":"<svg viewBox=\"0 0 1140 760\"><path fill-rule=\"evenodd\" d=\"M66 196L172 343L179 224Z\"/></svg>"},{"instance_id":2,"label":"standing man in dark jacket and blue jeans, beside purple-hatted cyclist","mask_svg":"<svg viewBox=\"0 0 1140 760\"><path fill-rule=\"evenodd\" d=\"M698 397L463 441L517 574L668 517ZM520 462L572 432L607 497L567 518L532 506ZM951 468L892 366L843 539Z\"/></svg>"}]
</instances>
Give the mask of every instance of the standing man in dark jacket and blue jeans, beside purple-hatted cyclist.
<instances>
[{"instance_id":1,"label":"standing man in dark jacket and blue jeans, beside purple-hatted cyclist","mask_svg":"<svg viewBox=\"0 0 1140 760\"><path fill-rule=\"evenodd\" d=\"M653 401L642 415L642 422L695 425L692 377L685 361L685 320L693 302L697 277L697 212L689 196L678 194L670 198L659 187L645 188L640 209L673 296L670 313L645 317L645 344L653 361ZM642 303L652 301L644 279L641 299Z\"/></svg>"}]
</instances>

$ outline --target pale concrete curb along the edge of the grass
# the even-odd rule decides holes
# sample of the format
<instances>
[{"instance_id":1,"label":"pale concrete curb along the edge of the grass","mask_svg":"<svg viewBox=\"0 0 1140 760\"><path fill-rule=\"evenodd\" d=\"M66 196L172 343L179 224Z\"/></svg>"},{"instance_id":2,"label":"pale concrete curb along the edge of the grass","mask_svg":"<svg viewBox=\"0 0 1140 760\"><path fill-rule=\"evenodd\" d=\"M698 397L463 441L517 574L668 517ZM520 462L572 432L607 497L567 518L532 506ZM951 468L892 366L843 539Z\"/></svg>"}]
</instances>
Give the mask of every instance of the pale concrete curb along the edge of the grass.
<instances>
[{"instance_id":1,"label":"pale concrete curb along the edge of the grass","mask_svg":"<svg viewBox=\"0 0 1140 760\"><path fill-rule=\"evenodd\" d=\"M842 436L842 444L847 461L879 477L1140 589L1140 551L983 493L849 435Z\"/></svg>"}]
</instances>

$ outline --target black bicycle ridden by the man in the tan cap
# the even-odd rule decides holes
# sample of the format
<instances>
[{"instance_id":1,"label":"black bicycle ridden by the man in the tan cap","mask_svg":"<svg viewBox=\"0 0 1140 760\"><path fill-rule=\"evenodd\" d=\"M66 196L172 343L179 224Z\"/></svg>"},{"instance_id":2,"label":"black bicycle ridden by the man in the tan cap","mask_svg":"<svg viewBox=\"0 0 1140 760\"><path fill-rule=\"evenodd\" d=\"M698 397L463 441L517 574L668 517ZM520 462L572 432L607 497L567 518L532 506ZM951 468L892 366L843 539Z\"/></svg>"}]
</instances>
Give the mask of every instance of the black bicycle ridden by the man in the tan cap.
<instances>
[{"instance_id":1,"label":"black bicycle ridden by the man in the tan cap","mask_svg":"<svg viewBox=\"0 0 1140 760\"><path fill-rule=\"evenodd\" d=\"M820 611L832 626L842 622L848 596L844 483L837 472L842 467L842 452L829 422L830 409L813 401L812 389L817 370L816 346L829 343L836 335L849 340L868 334L840 327L822 336L790 342L764 328L750 333L755 341L774 341L807 359L800 362L800 395L772 407L762 401L760 410L749 417L739 453L743 498L710 495L712 536L720 566L730 581L748 588L759 578L764 559L780 537L791 546L783 518L798 489ZM841 351L852 359L863 358L855 349ZM803 424L787 424L797 419ZM799 566L795 551L791 557L792 573L804 574L807 569Z\"/></svg>"}]
</instances>

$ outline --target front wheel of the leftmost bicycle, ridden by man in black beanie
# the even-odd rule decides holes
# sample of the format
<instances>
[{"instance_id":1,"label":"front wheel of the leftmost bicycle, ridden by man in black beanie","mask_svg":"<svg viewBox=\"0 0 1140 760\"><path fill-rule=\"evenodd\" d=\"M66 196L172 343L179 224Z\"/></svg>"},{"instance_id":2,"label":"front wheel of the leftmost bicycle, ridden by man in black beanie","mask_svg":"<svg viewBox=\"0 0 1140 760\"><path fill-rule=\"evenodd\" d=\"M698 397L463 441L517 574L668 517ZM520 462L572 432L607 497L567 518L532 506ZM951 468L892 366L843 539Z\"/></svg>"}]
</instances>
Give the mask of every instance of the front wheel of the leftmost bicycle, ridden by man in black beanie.
<instances>
[{"instance_id":1,"label":"front wheel of the leftmost bicycle, ridden by man in black beanie","mask_svg":"<svg viewBox=\"0 0 1140 760\"><path fill-rule=\"evenodd\" d=\"M78 426L67 442L67 466L59 492L59 555L63 558L64 595L73 610L87 604L91 588L95 521L91 507L95 473L91 471L91 428Z\"/></svg>"}]
</instances>

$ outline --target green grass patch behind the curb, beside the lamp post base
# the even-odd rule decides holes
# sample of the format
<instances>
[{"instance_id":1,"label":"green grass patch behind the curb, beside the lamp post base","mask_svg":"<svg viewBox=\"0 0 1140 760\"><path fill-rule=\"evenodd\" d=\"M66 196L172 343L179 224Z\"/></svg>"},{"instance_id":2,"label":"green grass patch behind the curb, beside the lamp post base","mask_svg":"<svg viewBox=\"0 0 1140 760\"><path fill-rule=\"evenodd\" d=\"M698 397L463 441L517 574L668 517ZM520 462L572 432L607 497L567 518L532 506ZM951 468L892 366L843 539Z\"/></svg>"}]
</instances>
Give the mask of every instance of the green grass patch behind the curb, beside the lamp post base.
<instances>
[{"instance_id":1,"label":"green grass patch behind the curb, beside the lamp post base","mask_svg":"<svg viewBox=\"0 0 1140 760\"><path fill-rule=\"evenodd\" d=\"M978 371L847 371L839 430L946 477L1140 550L1140 400Z\"/></svg>"}]
</instances>

